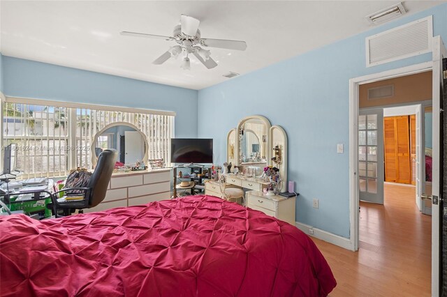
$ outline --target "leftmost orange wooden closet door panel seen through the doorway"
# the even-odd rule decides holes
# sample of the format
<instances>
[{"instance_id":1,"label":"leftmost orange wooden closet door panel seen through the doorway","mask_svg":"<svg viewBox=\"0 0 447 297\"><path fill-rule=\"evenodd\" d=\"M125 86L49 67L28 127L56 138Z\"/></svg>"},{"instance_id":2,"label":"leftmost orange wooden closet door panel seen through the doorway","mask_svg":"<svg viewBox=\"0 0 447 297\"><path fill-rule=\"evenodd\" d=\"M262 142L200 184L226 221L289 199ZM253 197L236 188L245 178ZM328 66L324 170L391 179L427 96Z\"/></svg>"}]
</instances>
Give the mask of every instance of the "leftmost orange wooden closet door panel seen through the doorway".
<instances>
[{"instance_id":1,"label":"leftmost orange wooden closet door panel seen through the doorway","mask_svg":"<svg viewBox=\"0 0 447 297\"><path fill-rule=\"evenodd\" d=\"M397 154L394 116L383 118L383 140L385 146L385 181L397 182Z\"/></svg>"}]
</instances>

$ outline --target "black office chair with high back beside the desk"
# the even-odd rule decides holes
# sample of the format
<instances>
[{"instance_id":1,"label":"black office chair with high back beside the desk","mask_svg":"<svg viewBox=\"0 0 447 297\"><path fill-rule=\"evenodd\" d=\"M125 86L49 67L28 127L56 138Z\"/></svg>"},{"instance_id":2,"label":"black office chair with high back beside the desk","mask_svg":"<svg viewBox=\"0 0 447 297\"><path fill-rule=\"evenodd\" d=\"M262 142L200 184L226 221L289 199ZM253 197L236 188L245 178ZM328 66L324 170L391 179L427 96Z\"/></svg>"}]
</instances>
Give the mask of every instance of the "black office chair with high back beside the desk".
<instances>
[{"instance_id":1,"label":"black office chair with high back beside the desk","mask_svg":"<svg viewBox=\"0 0 447 297\"><path fill-rule=\"evenodd\" d=\"M64 188L58 192L52 194L52 205L48 206L52 208L56 218L60 216L71 215L77 209L79 213L82 213L82 209L91 208L97 206L105 198L105 192L107 192L110 178L112 177L113 169L115 168L115 162L117 160L117 151L105 150L99 155L98 163L91 174L89 183L85 188ZM69 190L81 190L81 194L75 195L76 197L83 196L83 199L69 199L70 195L59 197L59 192L66 192ZM68 198L68 199L67 199ZM63 215L59 214L59 210L63 211Z\"/></svg>"}]
</instances>

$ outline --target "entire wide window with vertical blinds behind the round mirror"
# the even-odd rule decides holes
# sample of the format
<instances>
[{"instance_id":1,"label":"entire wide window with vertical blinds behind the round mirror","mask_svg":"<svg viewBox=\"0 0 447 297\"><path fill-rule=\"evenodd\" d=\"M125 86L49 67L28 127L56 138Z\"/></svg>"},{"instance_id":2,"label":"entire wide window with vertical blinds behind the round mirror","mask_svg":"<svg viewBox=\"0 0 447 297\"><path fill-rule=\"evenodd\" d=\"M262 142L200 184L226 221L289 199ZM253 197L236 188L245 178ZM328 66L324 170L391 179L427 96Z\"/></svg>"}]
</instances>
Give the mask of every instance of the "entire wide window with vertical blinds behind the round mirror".
<instances>
[{"instance_id":1,"label":"entire wide window with vertical blinds behind the round mirror","mask_svg":"<svg viewBox=\"0 0 447 297\"><path fill-rule=\"evenodd\" d=\"M24 178L64 176L77 167L91 169L90 146L94 136L115 122L131 123L147 136L149 159L170 162L174 116L169 112L101 110L84 108L86 105L76 108L73 104L64 107L59 106L64 102L43 105L43 100L15 99L1 102L2 146L17 144L16 167L24 172Z\"/></svg>"}]
</instances>

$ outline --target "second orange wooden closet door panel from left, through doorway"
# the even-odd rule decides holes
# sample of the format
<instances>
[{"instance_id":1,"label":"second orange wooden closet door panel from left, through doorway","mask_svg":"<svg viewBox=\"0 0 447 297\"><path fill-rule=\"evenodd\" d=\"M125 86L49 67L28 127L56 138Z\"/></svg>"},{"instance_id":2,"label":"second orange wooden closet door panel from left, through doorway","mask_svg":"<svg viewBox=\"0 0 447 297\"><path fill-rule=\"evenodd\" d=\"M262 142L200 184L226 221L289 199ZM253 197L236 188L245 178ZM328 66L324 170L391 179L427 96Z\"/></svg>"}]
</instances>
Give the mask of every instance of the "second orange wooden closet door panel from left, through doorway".
<instances>
[{"instance_id":1,"label":"second orange wooden closet door panel from left, through doorway","mask_svg":"<svg viewBox=\"0 0 447 297\"><path fill-rule=\"evenodd\" d=\"M395 117L398 183L411 183L409 116Z\"/></svg>"}]
</instances>

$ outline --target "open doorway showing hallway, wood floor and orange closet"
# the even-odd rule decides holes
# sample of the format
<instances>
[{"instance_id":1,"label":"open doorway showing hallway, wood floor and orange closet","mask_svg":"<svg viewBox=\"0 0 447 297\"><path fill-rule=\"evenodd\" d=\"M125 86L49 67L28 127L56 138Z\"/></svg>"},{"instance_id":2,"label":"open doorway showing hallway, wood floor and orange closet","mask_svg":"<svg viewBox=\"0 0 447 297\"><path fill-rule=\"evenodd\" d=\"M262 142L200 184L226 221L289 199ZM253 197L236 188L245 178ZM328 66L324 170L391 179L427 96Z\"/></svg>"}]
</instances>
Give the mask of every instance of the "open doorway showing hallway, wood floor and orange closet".
<instances>
[{"instance_id":1,"label":"open doorway showing hallway, wood floor and orange closet","mask_svg":"<svg viewBox=\"0 0 447 297\"><path fill-rule=\"evenodd\" d=\"M379 92L386 98L368 96L369 90L377 92L381 86L393 86L393 91ZM406 91L403 95L402 89ZM365 94L366 104L362 100ZM432 104L428 100L431 97L430 70L359 87L360 253L374 252L374 257L389 266L407 266L402 279L423 280L423 296L430 294L430 287L423 284L431 281L431 217L420 213L418 201L425 187L421 167L426 138L423 110ZM397 250L402 252L396 254Z\"/></svg>"}]
</instances>

